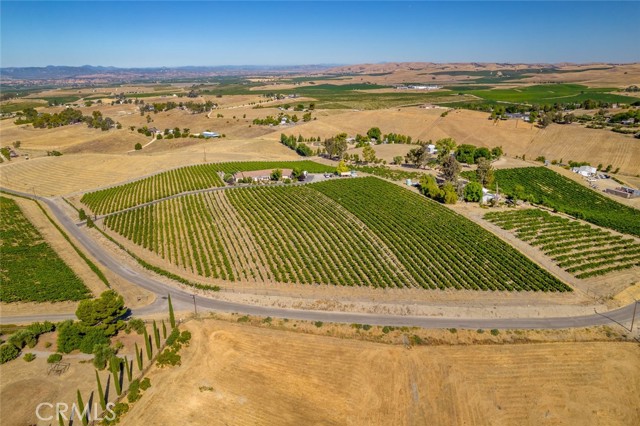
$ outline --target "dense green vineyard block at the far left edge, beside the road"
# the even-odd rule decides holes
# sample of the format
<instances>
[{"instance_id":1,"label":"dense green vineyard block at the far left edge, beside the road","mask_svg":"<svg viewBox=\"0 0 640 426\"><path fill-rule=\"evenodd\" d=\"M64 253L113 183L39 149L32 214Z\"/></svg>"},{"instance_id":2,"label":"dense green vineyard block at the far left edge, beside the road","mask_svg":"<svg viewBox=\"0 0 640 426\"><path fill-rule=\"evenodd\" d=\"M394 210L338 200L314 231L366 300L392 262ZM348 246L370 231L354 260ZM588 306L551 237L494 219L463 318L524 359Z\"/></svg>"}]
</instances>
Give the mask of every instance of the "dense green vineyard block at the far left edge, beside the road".
<instances>
[{"instance_id":1,"label":"dense green vineyard block at the far left edge, beside the road","mask_svg":"<svg viewBox=\"0 0 640 426\"><path fill-rule=\"evenodd\" d=\"M12 199L0 197L0 301L82 300L91 292Z\"/></svg>"}]
</instances>

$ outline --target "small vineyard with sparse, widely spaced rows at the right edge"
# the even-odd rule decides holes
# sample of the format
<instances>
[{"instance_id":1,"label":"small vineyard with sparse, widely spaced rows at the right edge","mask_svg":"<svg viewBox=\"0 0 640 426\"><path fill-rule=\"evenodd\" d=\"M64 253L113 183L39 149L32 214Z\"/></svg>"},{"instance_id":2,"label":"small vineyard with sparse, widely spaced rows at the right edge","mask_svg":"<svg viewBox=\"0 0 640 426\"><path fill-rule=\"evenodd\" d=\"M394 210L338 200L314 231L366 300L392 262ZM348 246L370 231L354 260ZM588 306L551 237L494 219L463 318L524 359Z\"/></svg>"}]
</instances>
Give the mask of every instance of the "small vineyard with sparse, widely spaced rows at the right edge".
<instances>
[{"instance_id":1,"label":"small vineyard with sparse, widely spaced rows at the right edge","mask_svg":"<svg viewBox=\"0 0 640 426\"><path fill-rule=\"evenodd\" d=\"M584 279L640 266L640 244L538 209L491 212L484 218L538 247L559 267Z\"/></svg>"}]
</instances>

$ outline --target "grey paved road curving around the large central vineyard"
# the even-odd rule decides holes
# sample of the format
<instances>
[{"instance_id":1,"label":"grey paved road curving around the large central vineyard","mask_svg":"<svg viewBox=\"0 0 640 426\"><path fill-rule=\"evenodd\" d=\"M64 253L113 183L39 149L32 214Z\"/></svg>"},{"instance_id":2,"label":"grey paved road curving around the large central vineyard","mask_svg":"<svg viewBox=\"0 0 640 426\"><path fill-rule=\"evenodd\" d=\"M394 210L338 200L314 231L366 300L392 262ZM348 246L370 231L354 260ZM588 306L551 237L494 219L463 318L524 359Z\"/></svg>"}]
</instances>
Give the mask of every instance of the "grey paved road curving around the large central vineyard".
<instances>
[{"instance_id":1,"label":"grey paved road curving around the large central vineyard","mask_svg":"<svg viewBox=\"0 0 640 426\"><path fill-rule=\"evenodd\" d=\"M171 299L177 309L184 309L193 306L193 295L187 291L176 289L164 284L146 274L142 270L130 269L122 265L110 253L91 239L83 229L69 218L55 200L44 197L33 197L31 194L21 193L0 188L6 192L14 193L28 198L36 198L45 203L56 216L58 221L64 226L68 233L72 234L103 267L113 273L128 280L129 282L149 290L157 295L154 303L143 308L134 309L133 314L142 316L146 314L162 312L167 309L164 297L171 294ZM631 322L634 305L630 304L623 308L606 312L605 314L594 313L591 315L558 318L441 318L441 317L417 317L399 315L379 315L379 314L359 314L334 311L308 311L296 309L283 309L273 307L263 307L245 305L240 303L226 302L212 298L196 296L196 303L199 312L237 312L248 315L270 316L274 318L290 318L310 321L340 322L340 323L361 323L371 325L390 326L417 326L425 328L469 328L469 329L491 329L491 328L523 328L523 329L551 329L588 327L604 324L627 324ZM22 317L1 317L0 323L17 323L43 321L59 321L72 318L73 315L32 315ZM640 317L640 309L636 313L636 318Z\"/></svg>"}]
</instances>

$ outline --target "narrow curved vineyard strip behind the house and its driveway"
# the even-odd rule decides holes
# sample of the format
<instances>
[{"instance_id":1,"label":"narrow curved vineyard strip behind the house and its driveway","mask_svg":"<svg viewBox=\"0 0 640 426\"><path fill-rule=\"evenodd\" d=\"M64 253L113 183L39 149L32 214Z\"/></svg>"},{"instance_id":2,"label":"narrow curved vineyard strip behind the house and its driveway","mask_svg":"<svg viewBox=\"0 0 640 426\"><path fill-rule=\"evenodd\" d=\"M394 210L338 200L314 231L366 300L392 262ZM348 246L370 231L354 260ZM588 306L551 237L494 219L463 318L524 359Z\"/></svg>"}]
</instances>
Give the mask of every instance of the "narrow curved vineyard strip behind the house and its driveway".
<instances>
[{"instance_id":1,"label":"narrow curved vineyard strip behind the house and its driveway","mask_svg":"<svg viewBox=\"0 0 640 426\"><path fill-rule=\"evenodd\" d=\"M218 173L301 167L309 173L334 171L333 167L312 161L253 161L204 164L169 170L124 185L91 192L80 201L95 214L106 214L134 207L182 192L224 186Z\"/></svg>"}]
</instances>

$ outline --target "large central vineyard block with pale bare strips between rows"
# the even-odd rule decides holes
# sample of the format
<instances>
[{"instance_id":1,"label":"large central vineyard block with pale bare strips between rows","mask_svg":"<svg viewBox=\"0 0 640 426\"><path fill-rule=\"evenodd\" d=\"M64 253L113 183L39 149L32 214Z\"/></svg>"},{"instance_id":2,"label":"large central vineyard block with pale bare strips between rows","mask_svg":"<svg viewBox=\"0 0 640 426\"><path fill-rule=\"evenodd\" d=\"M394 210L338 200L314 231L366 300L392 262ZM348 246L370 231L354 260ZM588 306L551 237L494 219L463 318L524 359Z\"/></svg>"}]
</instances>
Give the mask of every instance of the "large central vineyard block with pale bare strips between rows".
<instances>
[{"instance_id":1,"label":"large central vineyard block with pale bare strips between rows","mask_svg":"<svg viewBox=\"0 0 640 426\"><path fill-rule=\"evenodd\" d=\"M105 224L187 272L231 281L571 291L481 227L377 178L190 195Z\"/></svg>"}]
</instances>

